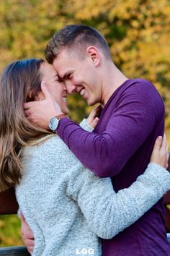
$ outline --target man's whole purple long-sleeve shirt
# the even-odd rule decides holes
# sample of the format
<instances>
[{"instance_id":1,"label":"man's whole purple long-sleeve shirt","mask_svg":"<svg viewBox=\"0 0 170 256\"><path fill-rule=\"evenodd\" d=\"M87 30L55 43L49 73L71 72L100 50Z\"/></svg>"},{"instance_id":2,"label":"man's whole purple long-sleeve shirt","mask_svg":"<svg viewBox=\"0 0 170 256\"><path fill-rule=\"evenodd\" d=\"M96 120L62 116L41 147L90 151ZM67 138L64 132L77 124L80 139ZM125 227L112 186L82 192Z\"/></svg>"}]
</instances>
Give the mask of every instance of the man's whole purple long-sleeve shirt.
<instances>
[{"instance_id":1,"label":"man's whole purple long-sleeve shirt","mask_svg":"<svg viewBox=\"0 0 170 256\"><path fill-rule=\"evenodd\" d=\"M143 79L127 80L117 88L94 133L70 119L62 119L58 127L58 135L79 161L97 176L112 177L116 191L143 174L156 137L163 134L164 103L151 82ZM103 256L122 255L170 255L162 200L128 229L103 240Z\"/></svg>"}]
</instances>

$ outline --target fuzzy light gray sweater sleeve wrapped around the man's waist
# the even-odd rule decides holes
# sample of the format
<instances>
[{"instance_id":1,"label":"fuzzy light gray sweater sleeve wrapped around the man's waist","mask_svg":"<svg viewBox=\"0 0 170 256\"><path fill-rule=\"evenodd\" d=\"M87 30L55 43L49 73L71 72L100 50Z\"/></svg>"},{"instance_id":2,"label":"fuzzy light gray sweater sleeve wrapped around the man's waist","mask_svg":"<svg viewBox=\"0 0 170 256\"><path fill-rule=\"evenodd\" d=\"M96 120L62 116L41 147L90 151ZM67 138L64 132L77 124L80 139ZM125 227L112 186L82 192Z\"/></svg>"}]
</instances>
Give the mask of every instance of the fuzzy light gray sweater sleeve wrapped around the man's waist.
<instances>
[{"instance_id":1,"label":"fuzzy light gray sweater sleeve wrapped around the man's waist","mask_svg":"<svg viewBox=\"0 0 170 256\"><path fill-rule=\"evenodd\" d=\"M136 182L117 193L110 179L100 179L84 168L71 176L67 195L78 201L91 230L111 239L143 216L169 189L169 172L149 163Z\"/></svg>"}]
</instances>

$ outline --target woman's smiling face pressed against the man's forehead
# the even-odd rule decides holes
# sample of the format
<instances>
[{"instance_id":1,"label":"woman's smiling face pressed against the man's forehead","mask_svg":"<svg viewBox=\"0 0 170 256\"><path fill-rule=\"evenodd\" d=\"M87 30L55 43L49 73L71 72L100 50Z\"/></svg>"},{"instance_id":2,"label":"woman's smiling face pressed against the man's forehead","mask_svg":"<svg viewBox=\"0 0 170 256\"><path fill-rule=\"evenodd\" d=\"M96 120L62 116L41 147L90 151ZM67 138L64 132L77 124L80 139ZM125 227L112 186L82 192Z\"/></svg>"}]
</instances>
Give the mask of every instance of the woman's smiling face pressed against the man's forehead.
<instances>
[{"instance_id":1,"label":"woman's smiling face pressed against the man's forehead","mask_svg":"<svg viewBox=\"0 0 170 256\"><path fill-rule=\"evenodd\" d=\"M58 80L58 74L53 68L52 65L48 64L47 62L42 62L40 66L40 74L42 81L45 81L46 86L53 95L53 98L55 98L55 101L58 102L58 104L61 106L61 111L64 114L68 114L69 109L67 106L67 92L66 87L62 82L59 82ZM43 99L44 95L42 92L38 94L39 99Z\"/></svg>"}]
</instances>

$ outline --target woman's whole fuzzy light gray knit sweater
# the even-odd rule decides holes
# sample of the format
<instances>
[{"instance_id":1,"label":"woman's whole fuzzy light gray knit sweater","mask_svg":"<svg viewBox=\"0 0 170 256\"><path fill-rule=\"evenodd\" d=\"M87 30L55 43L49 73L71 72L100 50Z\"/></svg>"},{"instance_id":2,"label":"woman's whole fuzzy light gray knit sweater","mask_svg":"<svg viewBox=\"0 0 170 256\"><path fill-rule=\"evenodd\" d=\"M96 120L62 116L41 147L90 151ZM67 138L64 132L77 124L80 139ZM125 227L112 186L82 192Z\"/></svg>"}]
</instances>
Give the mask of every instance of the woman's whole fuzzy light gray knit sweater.
<instances>
[{"instance_id":1,"label":"woman's whole fuzzy light gray knit sweater","mask_svg":"<svg viewBox=\"0 0 170 256\"><path fill-rule=\"evenodd\" d=\"M170 189L169 172L150 163L116 194L110 179L82 166L57 135L46 138L23 149L16 187L19 208L35 236L33 256L102 255L99 237L111 239Z\"/></svg>"}]
</instances>

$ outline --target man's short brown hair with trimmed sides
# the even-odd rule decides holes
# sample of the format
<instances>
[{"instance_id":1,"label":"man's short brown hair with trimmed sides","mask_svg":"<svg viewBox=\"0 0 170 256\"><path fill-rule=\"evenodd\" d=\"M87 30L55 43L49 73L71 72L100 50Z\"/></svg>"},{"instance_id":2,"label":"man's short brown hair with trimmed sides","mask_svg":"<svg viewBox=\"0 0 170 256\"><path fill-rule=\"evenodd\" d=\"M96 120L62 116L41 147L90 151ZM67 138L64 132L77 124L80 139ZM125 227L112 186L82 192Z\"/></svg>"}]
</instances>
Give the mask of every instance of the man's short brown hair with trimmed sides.
<instances>
[{"instance_id":1,"label":"man's short brown hair with trimmed sides","mask_svg":"<svg viewBox=\"0 0 170 256\"><path fill-rule=\"evenodd\" d=\"M63 48L75 51L86 51L89 46L97 46L100 48L104 56L111 58L107 40L94 27L87 25L67 25L58 30L50 39L45 48L45 58L48 63L53 64L55 57L63 50Z\"/></svg>"}]
</instances>

